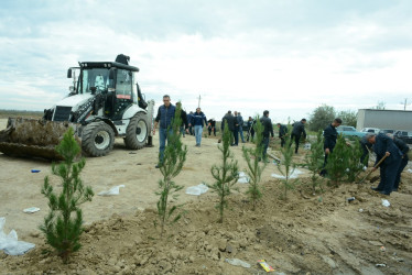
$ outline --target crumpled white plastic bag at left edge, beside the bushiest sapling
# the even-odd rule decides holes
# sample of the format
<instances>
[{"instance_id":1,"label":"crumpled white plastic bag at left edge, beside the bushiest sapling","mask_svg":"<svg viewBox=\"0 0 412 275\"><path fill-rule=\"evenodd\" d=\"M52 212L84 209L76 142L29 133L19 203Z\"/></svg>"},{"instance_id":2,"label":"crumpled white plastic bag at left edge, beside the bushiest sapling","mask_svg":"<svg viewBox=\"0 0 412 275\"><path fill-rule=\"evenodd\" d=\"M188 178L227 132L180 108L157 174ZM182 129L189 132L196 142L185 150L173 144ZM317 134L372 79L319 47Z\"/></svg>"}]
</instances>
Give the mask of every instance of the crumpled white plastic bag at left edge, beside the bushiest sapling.
<instances>
[{"instance_id":1,"label":"crumpled white plastic bag at left edge, beside the bushiest sapling","mask_svg":"<svg viewBox=\"0 0 412 275\"><path fill-rule=\"evenodd\" d=\"M4 223L6 218L0 217L0 250L3 250L6 254L12 256L23 255L35 246L34 243L18 241L18 233L14 229L9 234L6 234L3 232Z\"/></svg>"}]
</instances>

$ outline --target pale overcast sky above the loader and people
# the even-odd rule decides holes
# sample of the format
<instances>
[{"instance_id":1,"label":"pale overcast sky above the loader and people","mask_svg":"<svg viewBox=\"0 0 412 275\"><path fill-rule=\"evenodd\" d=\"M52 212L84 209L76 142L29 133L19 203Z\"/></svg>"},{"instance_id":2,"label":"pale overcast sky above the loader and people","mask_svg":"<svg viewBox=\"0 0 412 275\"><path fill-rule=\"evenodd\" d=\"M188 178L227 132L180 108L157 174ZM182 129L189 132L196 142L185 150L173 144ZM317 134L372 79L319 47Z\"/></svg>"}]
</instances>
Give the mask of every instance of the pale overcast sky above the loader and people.
<instances>
[{"instance_id":1,"label":"pale overcast sky above the loader and people","mask_svg":"<svg viewBox=\"0 0 412 275\"><path fill-rule=\"evenodd\" d=\"M412 102L410 0L2 0L0 109L43 110L67 68L126 54L156 107L162 95L207 118L270 111L300 120ZM412 105L406 106L412 110Z\"/></svg>"}]
</instances>

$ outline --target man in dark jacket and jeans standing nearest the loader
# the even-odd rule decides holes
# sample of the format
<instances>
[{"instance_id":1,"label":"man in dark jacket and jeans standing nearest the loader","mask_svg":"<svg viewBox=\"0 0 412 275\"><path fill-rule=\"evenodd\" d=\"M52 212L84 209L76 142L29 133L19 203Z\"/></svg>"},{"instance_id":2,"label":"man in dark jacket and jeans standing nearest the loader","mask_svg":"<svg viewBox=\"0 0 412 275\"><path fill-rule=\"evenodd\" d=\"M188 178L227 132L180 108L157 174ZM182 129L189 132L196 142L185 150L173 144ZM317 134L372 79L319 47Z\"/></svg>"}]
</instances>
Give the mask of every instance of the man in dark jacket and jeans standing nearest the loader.
<instances>
[{"instance_id":1,"label":"man in dark jacket and jeans standing nearest the loader","mask_svg":"<svg viewBox=\"0 0 412 275\"><path fill-rule=\"evenodd\" d=\"M167 95L163 96L163 105L159 107L158 116L154 119L153 135L158 123L159 127L159 164L155 166L160 168L163 165L164 148L166 147L166 140L169 142L169 135L173 134L172 122L176 107L171 103L171 97Z\"/></svg>"}]
</instances>

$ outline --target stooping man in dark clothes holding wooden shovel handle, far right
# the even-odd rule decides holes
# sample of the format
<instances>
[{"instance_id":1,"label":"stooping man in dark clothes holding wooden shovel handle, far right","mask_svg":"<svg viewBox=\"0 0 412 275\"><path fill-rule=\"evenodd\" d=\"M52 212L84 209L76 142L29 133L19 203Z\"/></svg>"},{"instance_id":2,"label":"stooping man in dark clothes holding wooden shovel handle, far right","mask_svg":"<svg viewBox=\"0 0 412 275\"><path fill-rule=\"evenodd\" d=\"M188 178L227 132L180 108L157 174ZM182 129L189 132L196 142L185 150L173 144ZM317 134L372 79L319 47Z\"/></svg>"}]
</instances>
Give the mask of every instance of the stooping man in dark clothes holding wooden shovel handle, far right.
<instances>
[{"instance_id":1,"label":"stooping man in dark clothes holding wooden shovel handle, far right","mask_svg":"<svg viewBox=\"0 0 412 275\"><path fill-rule=\"evenodd\" d=\"M377 154L377 164L383 156L387 158L380 164L380 183L372 190L383 195L390 195L398 176L399 166L402 161L402 153L394 144L393 140L386 134L368 134L368 142L373 144L373 151ZM372 168L376 170L377 168Z\"/></svg>"}]
</instances>

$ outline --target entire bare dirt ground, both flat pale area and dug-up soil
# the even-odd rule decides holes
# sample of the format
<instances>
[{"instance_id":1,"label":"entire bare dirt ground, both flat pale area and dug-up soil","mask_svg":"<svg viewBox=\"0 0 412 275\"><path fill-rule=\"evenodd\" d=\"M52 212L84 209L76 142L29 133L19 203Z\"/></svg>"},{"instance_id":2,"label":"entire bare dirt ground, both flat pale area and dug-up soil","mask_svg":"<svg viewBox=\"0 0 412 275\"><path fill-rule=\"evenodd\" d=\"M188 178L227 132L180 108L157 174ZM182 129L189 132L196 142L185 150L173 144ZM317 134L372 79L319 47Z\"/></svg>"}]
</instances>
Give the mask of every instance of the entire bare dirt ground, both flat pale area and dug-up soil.
<instances>
[{"instance_id":1,"label":"entire bare dirt ground, both flat pale area and dug-up soil","mask_svg":"<svg viewBox=\"0 0 412 275\"><path fill-rule=\"evenodd\" d=\"M4 127L6 120L0 120L0 129ZM193 136L183 141L188 147L187 162L175 182L185 188L202 182L212 184L210 167L220 162L217 140L203 139L202 147L194 146ZM370 190L369 182L328 187L324 180L324 193L313 194L307 187L307 172L302 169L305 173L300 185L282 200L282 183L271 177L279 172L270 163L263 172L263 199L256 211L245 195L247 185L238 184L239 191L230 196L220 224L214 208L217 195L208 191L196 197L186 195L184 188L178 204L185 202L187 213L160 238L154 227L154 191L161 178L154 168L156 136L154 144L131 154L119 139L109 155L87 158L82 178L95 194L117 185L126 187L120 188L119 196L95 196L83 205L83 248L67 265L45 244L37 229L48 212L40 190L44 177L51 175L51 164L0 153L4 231L14 229L19 240L36 245L22 256L0 252L0 274L263 274L257 265L262 258L284 274L412 273L412 174L403 173L399 193L382 197ZM245 170L241 146L232 147L232 153ZM295 161L302 162L304 154L301 150ZM58 186L57 178L51 179ZM348 202L349 197L356 199ZM382 199L391 206L383 207ZM29 207L41 210L24 213ZM225 258L240 258L251 267L234 266Z\"/></svg>"}]
</instances>

